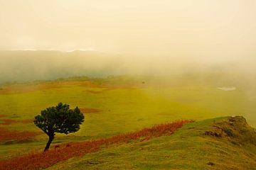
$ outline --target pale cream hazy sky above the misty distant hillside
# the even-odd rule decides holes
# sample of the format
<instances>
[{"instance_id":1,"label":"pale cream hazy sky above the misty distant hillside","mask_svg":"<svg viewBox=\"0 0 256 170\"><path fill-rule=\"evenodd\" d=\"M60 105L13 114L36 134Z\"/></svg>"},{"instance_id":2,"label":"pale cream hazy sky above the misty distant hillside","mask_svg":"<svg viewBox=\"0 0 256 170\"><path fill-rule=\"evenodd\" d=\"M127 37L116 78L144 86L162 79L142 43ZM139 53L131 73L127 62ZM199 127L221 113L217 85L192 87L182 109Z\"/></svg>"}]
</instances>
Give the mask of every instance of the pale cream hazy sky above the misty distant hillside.
<instances>
[{"instance_id":1,"label":"pale cream hazy sky above the misty distant hillside","mask_svg":"<svg viewBox=\"0 0 256 170\"><path fill-rule=\"evenodd\" d=\"M0 49L256 55L255 0L0 0Z\"/></svg>"}]
</instances>

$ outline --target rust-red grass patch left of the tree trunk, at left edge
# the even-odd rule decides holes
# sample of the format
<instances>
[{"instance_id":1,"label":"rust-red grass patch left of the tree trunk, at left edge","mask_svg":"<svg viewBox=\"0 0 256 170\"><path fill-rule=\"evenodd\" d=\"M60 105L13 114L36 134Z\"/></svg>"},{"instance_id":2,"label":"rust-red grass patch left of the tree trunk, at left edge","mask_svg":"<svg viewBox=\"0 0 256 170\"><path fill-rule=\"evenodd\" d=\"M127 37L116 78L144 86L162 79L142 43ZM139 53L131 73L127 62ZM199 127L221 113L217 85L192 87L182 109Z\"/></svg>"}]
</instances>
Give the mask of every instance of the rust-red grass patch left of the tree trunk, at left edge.
<instances>
[{"instance_id":1,"label":"rust-red grass patch left of the tree trunk, at left edge","mask_svg":"<svg viewBox=\"0 0 256 170\"><path fill-rule=\"evenodd\" d=\"M22 142L26 140L31 140L36 135L40 135L40 134L41 132L16 131L16 130L8 130L6 128L0 128L0 142L9 141L9 140Z\"/></svg>"}]
</instances>

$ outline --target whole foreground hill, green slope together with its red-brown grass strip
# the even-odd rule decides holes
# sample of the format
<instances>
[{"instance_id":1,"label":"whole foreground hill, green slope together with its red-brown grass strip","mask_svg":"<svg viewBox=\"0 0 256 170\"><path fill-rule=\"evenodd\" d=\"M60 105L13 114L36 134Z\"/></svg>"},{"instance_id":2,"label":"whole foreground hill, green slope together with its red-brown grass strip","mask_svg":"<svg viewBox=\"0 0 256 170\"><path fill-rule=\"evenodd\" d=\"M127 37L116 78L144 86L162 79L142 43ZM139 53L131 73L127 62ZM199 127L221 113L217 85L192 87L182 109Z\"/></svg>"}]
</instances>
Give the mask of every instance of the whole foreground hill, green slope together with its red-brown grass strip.
<instances>
[{"instance_id":1,"label":"whole foreground hill, green slope together with its red-brown grass strip","mask_svg":"<svg viewBox=\"0 0 256 170\"><path fill-rule=\"evenodd\" d=\"M55 146L2 160L0 169L256 169L256 131L242 116L176 121Z\"/></svg>"}]
</instances>

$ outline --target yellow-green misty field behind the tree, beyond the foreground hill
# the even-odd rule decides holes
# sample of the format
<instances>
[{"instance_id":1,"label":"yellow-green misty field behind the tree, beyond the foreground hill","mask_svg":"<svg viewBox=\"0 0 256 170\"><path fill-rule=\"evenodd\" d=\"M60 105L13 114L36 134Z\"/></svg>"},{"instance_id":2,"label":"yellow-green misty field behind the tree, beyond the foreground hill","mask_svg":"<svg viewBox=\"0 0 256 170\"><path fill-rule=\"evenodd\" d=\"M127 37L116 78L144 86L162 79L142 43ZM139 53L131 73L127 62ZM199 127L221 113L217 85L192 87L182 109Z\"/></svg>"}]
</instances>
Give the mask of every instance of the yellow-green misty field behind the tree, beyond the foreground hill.
<instances>
[{"instance_id":1,"label":"yellow-green misty field behind the tree, beyond the foreground hill","mask_svg":"<svg viewBox=\"0 0 256 170\"><path fill-rule=\"evenodd\" d=\"M145 81L145 84L142 84L142 81ZM65 84L65 82L67 81L59 83ZM168 83L165 84L158 79L148 77L119 77L94 79L92 82L125 86L105 90L107 88L104 86L69 85L54 89L11 91L10 94L1 94L6 88L4 86L0 91L0 115L18 120L33 118L42 109L54 106L60 101L69 103L71 107L102 110L102 113L85 114L85 123L79 132L68 136L57 135L54 143L108 137L177 119L203 120L223 115L245 115L250 120L250 124L255 125L255 115L253 115L255 98L248 99L247 92L242 86L237 86L237 91L218 90L218 86L232 85L232 81L198 81L195 77L191 79L174 77L168 79ZM33 123L16 123L0 125L0 127L41 132ZM43 149L46 140L46 135L42 134L36 137L36 140L27 143L19 144L15 141L12 145L1 143L0 159L23 154L32 149Z\"/></svg>"}]
</instances>

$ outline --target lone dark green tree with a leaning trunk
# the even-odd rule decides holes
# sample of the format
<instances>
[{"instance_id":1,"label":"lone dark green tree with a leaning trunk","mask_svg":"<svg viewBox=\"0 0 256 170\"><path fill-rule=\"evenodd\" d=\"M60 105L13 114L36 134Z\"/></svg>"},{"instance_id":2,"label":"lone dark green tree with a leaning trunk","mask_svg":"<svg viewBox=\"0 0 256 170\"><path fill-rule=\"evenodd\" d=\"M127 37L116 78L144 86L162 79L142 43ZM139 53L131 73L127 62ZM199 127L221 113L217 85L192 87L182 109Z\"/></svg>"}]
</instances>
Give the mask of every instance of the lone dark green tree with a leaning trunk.
<instances>
[{"instance_id":1,"label":"lone dark green tree with a leaning trunk","mask_svg":"<svg viewBox=\"0 0 256 170\"><path fill-rule=\"evenodd\" d=\"M84 119L85 116L78 107L72 110L69 105L63 103L58 103L55 107L41 111L41 115L35 117L34 123L49 137L44 152L49 149L55 132L65 133L66 135L70 132L77 132Z\"/></svg>"}]
</instances>

